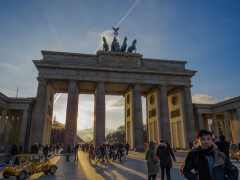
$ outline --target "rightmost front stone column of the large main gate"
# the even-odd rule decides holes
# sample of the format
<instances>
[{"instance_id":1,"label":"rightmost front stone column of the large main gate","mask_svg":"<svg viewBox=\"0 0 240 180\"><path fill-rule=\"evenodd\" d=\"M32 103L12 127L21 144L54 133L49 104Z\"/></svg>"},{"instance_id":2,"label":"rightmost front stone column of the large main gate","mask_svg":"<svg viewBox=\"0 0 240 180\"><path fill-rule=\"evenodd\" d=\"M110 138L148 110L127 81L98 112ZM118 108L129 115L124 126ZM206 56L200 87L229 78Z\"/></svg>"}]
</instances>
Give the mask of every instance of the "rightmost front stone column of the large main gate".
<instances>
[{"instance_id":1,"label":"rightmost front stone column of the large main gate","mask_svg":"<svg viewBox=\"0 0 240 180\"><path fill-rule=\"evenodd\" d=\"M183 89L183 92L184 92L187 139L188 139L188 142L190 142L193 140L193 137L195 137L195 123L194 123L194 116L193 116L191 87L185 86Z\"/></svg>"}]
</instances>

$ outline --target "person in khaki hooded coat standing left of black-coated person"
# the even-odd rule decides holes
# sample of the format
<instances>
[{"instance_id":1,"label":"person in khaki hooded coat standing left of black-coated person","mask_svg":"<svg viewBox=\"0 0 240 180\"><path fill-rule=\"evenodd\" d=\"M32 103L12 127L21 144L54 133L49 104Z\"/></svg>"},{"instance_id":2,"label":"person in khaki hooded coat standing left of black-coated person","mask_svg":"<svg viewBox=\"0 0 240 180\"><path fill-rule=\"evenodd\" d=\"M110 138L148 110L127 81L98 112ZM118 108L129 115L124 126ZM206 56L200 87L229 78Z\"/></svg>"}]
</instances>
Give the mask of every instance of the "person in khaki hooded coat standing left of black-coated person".
<instances>
[{"instance_id":1,"label":"person in khaki hooded coat standing left of black-coated person","mask_svg":"<svg viewBox=\"0 0 240 180\"><path fill-rule=\"evenodd\" d=\"M149 148L146 152L148 180L155 180L156 175L159 172L159 160L156 155L155 142L150 141L148 147Z\"/></svg>"}]
</instances>

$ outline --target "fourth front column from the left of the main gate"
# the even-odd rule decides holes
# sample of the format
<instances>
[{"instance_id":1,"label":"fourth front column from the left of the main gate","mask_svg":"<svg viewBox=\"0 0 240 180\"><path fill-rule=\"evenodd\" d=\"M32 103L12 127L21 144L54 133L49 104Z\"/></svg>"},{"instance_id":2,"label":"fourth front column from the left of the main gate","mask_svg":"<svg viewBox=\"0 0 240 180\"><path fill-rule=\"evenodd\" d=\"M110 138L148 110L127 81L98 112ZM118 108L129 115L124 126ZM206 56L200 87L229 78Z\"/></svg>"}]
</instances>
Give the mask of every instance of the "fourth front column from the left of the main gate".
<instances>
[{"instance_id":1,"label":"fourth front column from the left of the main gate","mask_svg":"<svg viewBox=\"0 0 240 180\"><path fill-rule=\"evenodd\" d=\"M134 84L133 87L133 124L135 130L136 151L143 151L143 121L142 121L142 96L141 85Z\"/></svg>"}]
</instances>

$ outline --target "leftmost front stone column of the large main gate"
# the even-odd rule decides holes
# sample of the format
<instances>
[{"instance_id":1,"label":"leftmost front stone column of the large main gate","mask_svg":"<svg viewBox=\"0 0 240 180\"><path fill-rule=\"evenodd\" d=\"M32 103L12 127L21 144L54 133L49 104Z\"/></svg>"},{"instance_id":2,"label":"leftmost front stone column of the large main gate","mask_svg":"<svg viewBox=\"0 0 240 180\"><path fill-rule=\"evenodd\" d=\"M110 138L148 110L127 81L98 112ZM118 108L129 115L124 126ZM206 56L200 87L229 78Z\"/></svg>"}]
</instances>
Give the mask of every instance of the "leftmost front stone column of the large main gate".
<instances>
[{"instance_id":1,"label":"leftmost front stone column of the large main gate","mask_svg":"<svg viewBox=\"0 0 240 180\"><path fill-rule=\"evenodd\" d=\"M42 143L44 141L44 121L47 114L47 80L38 79L38 91L34 112L32 138L30 144Z\"/></svg>"}]
</instances>

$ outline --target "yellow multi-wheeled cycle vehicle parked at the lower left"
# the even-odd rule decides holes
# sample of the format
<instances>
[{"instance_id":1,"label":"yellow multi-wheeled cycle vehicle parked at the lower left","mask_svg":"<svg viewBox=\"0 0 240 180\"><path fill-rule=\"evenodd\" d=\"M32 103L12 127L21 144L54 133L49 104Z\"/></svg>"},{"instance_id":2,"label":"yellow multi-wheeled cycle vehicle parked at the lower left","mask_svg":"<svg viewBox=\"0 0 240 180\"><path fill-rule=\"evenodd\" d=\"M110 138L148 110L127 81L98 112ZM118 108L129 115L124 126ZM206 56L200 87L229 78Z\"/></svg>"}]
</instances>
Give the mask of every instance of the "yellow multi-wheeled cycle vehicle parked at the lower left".
<instances>
[{"instance_id":1,"label":"yellow multi-wheeled cycle vehicle parked at the lower left","mask_svg":"<svg viewBox=\"0 0 240 180\"><path fill-rule=\"evenodd\" d=\"M16 155L16 158L18 158L20 165L13 167L11 163L10 167L6 167L3 170L3 177L9 178L10 176L16 176L17 180L23 180L27 174L41 171L45 174L54 174L57 171L57 166L51 164L49 159L40 161L40 154Z\"/></svg>"}]
</instances>

